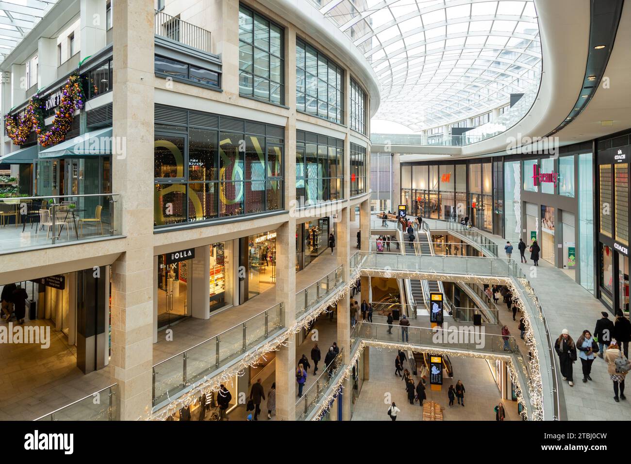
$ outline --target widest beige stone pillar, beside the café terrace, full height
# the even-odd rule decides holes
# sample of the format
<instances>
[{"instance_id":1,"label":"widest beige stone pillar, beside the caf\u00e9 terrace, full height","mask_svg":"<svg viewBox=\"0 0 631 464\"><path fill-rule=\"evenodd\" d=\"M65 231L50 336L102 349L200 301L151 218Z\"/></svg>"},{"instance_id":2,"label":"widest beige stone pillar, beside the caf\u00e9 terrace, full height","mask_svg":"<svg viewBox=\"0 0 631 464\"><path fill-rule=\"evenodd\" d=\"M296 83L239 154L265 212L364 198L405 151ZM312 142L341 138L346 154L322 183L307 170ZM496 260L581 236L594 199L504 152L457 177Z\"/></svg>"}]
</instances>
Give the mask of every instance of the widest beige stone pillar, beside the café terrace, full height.
<instances>
[{"instance_id":1,"label":"widest beige stone pillar, beside the caf\u00e9 terrace, full height","mask_svg":"<svg viewBox=\"0 0 631 464\"><path fill-rule=\"evenodd\" d=\"M153 365L153 3L115 1L113 17L113 135L127 152L112 157L112 179L127 244L112 266L110 364L121 419L135 420L151 411Z\"/></svg>"}]
</instances>

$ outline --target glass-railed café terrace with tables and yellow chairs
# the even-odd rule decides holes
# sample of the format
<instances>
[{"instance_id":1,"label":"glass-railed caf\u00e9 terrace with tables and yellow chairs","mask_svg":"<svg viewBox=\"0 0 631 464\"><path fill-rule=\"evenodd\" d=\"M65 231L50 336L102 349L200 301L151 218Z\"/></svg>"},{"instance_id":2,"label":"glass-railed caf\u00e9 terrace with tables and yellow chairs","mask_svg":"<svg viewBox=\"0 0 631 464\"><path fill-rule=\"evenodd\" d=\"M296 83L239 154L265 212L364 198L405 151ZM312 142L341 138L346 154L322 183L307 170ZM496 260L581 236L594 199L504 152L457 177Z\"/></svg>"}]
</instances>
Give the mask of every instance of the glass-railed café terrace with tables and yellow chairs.
<instances>
[{"instance_id":1,"label":"glass-railed caf\u00e9 terrace with tables and yellow chairs","mask_svg":"<svg viewBox=\"0 0 631 464\"><path fill-rule=\"evenodd\" d=\"M0 254L122 237L119 197L0 198Z\"/></svg>"}]
</instances>

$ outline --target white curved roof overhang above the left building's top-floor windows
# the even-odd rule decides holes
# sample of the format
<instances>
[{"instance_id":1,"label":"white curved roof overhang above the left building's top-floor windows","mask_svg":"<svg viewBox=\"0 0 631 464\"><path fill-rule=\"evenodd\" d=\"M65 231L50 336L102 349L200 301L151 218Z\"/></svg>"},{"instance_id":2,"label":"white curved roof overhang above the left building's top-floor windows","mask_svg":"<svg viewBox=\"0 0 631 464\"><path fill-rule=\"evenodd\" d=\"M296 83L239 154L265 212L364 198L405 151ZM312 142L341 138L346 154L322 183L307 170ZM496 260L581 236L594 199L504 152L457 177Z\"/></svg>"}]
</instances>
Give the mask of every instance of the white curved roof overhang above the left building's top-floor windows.
<instances>
[{"instance_id":1,"label":"white curved roof overhang above the left building's top-floor windows","mask_svg":"<svg viewBox=\"0 0 631 464\"><path fill-rule=\"evenodd\" d=\"M317 40L312 44L335 61L348 66L367 87L370 97L370 116L374 116L381 102L377 75L353 41L333 25L324 20L321 13L309 0L259 0L259 3L282 15L298 29L304 30ZM341 63L341 64L342 64Z\"/></svg>"}]
</instances>

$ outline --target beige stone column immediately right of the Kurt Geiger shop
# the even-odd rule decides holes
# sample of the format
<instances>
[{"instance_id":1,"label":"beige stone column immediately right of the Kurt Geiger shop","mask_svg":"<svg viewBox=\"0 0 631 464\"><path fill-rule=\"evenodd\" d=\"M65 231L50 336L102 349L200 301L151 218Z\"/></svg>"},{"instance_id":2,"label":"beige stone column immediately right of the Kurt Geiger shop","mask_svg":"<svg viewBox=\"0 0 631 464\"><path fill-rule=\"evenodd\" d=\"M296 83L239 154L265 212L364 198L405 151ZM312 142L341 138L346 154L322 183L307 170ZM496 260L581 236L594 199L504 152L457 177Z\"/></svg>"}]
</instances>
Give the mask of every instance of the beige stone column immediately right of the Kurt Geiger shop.
<instances>
[{"instance_id":1,"label":"beige stone column immediately right of the Kurt Geiger shop","mask_svg":"<svg viewBox=\"0 0 631 464\"><path fill-rule=\"evenodd\" d=\"M296 34L293 28L285 31L285 75L292 76L296 69ZM296 83L286 80L285 104L296 105ZM296 321L296 117L287 119L285 126L285 210L290 211L288 222L276 230L276 301L285 304L285 327ZM276 415L278 420L296 418L296 337L290 336L286 347L276 352Z\"/></svg>"}]
</instances>

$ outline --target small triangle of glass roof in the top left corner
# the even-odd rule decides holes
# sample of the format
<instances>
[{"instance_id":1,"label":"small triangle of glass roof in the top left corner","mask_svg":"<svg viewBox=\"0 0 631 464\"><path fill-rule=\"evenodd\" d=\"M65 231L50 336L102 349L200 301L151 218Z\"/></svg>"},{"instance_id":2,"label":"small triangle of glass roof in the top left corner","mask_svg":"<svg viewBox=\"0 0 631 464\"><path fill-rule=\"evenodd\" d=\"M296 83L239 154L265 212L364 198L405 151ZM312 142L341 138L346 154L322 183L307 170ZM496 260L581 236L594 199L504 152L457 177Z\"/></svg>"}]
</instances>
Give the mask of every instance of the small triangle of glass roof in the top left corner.
<instances>
[{"instance_id":1,"label":"small triangle of glass roof in the top left corner","mask_svg":"<svg viewBox=\"0 0 631 464\"><path fill-rule=\"evenodd\" d=\"M0 1L0 62L15 49L57 0Z\"/></svg>"}]
</instances>

